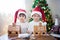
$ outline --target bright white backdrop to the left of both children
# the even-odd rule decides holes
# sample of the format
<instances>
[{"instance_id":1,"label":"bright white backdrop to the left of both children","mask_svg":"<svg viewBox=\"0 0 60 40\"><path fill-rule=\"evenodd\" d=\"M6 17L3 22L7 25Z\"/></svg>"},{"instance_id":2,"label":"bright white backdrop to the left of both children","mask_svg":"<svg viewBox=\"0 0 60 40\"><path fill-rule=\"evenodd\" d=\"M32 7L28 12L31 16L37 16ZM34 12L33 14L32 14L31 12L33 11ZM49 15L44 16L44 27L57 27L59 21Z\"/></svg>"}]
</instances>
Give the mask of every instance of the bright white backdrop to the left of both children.
<instances>
[{"instance_id":1,"label":"bright white backdrop to the left of both children","mask_svg":"<svg viewBox=\"0 0 60 40\"><path fill-rule=\"evenodd\" d=\"M0 0L0 32L6 31L19 8L26 9L25 0Z\"/></svg>"}]
</instances>

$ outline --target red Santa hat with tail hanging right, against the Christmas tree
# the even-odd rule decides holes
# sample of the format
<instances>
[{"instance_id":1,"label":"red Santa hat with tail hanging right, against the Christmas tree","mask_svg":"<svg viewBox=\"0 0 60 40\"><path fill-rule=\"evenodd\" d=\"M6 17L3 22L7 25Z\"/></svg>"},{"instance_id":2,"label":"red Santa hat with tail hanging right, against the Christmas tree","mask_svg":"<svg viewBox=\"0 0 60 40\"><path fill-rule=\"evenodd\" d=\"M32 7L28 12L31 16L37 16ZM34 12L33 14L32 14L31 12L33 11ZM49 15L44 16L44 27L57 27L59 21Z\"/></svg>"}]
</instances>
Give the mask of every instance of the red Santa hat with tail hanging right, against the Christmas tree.
<instances>
[{"instance_id":1,"label":"red Santa hat with tail hanging right, against the Christmas tree","mask_svg":"<svg viewBox=\"0 0 60 40\"><path fill-rule=\"evenodd\" d=\"M33 9L31 16L34 15L35 13L39 14L43 21L46 21L44 11L41 9L40 6L37 6L36 8Z\"/></svg>"}]
</instances>

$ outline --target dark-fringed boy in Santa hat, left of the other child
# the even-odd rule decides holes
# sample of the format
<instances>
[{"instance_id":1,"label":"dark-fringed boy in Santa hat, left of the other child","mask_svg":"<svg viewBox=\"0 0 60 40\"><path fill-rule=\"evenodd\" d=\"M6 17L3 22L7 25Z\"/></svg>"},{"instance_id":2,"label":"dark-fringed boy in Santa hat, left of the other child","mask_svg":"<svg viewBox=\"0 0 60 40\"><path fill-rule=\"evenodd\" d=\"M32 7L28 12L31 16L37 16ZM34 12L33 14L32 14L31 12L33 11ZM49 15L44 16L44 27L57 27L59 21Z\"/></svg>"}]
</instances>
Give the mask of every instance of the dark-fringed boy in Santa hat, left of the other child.
<instances>
[{"instance_id":1,"label":"dark-fringed boy in Santa hat, left of the other child","mask_svg":"<svg viewBox=\"0 0 60 40\"><path fill-rule=\"evenodd\" d=\"M16 25L21 26L21 33L24 34L27 32L28 29L28 22L26 22L27 14L26 11L23 9L19 9L16 13L18 13L17 18L19 21L17 21Z\"/></svg>"}]
</instances>

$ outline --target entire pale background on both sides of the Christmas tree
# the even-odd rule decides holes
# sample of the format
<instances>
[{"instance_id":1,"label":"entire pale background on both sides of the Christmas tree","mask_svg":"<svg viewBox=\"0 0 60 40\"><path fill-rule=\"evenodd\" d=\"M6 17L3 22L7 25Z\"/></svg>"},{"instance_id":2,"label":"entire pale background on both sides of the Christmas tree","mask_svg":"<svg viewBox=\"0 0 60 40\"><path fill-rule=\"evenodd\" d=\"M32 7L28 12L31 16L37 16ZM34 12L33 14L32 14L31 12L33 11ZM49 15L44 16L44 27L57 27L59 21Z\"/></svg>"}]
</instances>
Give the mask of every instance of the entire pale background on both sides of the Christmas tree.
<instances>
[{"instance_id":1,"label":"entire pale background on both sides of the Christmas tree","mask_svg":"<svg viewBox=\"0 0 60 40\"><path fill-rule=\"evenodd\" d=\"M7 33L8 25L13 22L16 10L22 8L30 16L34 0L0 0L0 34ZM57 14L60 18L60 0L47 0L53 19Z\"/></svg>"}]
</instances>

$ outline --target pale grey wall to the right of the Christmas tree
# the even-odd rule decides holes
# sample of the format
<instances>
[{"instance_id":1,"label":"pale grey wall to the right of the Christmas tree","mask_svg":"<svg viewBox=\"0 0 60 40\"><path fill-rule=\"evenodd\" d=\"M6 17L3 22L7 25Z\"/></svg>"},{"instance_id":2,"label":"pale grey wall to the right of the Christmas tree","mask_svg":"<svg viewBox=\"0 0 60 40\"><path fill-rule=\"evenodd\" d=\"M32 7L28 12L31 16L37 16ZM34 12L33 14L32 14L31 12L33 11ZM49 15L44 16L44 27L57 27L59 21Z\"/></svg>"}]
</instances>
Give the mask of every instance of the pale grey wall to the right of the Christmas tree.
<instances>
[{"instance_id":1,"label":"pale grey wall to the right of the Christmas tree","mask_svg":"<svg viewBox=\"0 0 60 40\"><path fill-rule=\"evenodd\" d=\"M60 0L47 0L47 3L51 9L53 18L57 14L60 17Z\"/></svg>"}]
</instances>

